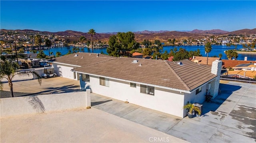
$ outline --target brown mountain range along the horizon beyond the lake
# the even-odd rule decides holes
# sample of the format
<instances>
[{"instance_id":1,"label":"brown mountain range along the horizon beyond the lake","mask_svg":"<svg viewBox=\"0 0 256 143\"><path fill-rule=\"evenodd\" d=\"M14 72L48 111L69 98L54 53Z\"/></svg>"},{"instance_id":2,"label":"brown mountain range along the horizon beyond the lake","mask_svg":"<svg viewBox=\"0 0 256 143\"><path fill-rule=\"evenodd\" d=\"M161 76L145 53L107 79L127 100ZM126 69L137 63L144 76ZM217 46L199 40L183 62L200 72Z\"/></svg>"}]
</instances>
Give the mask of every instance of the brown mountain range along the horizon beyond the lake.
<instances>
[{"instance_id":1,"label":"brown mountain range along the horizon beyond the lake","mask_svg":"<svg viewBox=\"0 0 256 143\"><path fill-rule=\"evenodd\" d=\"M66 31L60 31L60 32L48 32L48 31L35 31L35 30L6 30L1 29L1 31L24 31L24 32L38 32L38 33L44 33L44 34L54 34L54 35L62 35L62 36L84 36L86 39L90 39L91 35L88 33L80 32L80 31L72 31L72 30L66 30ZM96 33L94 35L94 40L101 40L101 41L108 41L109 37L113 34L116 34L117 32L108 32L108 33ZM220 29L212 29L212 30L198 30L194 29L192 31L136 31L134 32L136 41L143 41L144 39L148 40L160 40L160 41L167 41L168 39L180 39L180 38L188 38L188 37L202 37L206 35L251 35L256 34L256 28L254 29L241 29L236 31L223 31ZM79 38L74 37L73 39L79 40Z\"/></svg>"}]
</instances>

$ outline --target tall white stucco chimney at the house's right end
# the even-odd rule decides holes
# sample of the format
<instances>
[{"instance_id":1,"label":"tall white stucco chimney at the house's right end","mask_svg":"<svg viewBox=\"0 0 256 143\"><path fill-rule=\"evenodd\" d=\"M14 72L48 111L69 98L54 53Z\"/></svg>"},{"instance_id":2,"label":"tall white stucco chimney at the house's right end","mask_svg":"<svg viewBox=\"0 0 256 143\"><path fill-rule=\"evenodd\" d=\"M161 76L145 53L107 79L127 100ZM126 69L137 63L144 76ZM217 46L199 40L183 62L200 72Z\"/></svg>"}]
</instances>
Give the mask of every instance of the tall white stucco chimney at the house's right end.
<instances>
[{"instance_id":1,"label":"tall white stucco chimney at the house's right end","mask_svg":"<svg viewBox=\"0 0 256 143\"><path fill-rule=\"evenodd\" d=\"M210 82L211 87L210 87L209 92L213 96L213 98L215 98L219 92L221 67L222 67L222 61L215 60L212 62L212 71L211 72L213 74L217 75L217 77Z\"/></svg>"}]
</instances>

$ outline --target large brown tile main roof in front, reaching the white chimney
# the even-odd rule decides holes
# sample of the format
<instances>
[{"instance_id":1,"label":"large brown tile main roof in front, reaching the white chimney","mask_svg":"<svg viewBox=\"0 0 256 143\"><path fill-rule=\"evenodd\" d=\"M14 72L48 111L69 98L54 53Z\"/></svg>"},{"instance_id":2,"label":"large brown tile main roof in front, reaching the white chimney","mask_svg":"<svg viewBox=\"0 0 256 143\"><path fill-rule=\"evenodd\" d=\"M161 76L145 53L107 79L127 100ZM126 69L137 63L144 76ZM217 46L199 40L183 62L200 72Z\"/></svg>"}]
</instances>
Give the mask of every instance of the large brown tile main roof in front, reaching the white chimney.
<instances>
[{"instance_id":1,"label":"large brown tile main roof in front, reaching the white chimney","mask_svg":"<svg viewBox=\"0 0 256 143\"><path fill-rule=\"evenodd\" d=\"M132 63L133 60L138 63ZM122 57L86 65L74 71L186 91L192 91L216 77L211 73L211 67L189 60L183 60L182 63L178 65L162 60Z\"/></svg>"}]
</instances>

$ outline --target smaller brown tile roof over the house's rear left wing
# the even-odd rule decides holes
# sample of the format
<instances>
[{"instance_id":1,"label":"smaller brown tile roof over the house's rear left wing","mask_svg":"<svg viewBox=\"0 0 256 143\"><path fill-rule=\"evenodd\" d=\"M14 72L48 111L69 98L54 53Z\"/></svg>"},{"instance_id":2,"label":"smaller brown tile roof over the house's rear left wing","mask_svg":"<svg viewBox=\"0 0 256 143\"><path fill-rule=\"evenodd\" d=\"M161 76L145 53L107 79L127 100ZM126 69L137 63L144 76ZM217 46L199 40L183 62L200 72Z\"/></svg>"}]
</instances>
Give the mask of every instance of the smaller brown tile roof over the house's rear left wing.
<instances>
[{"instance_id":1,"label":"smaller brown tile roof over the house's rear left wing","mask_svg":"<svg viewBox=\"0 0 256 143\"><path fill-rule=\"evenodd\" d=\"M77 57L74 57L77 55ZM82 67L85 65L90 65L102 61L107 61L116 57L99 54L97 57L96 53L74 53L70 55L64 55L61 57L56 57L54 59L49 60L52 63L64 63L67 65L73 65L74 67Z\"/></svg>"}]
</instances>

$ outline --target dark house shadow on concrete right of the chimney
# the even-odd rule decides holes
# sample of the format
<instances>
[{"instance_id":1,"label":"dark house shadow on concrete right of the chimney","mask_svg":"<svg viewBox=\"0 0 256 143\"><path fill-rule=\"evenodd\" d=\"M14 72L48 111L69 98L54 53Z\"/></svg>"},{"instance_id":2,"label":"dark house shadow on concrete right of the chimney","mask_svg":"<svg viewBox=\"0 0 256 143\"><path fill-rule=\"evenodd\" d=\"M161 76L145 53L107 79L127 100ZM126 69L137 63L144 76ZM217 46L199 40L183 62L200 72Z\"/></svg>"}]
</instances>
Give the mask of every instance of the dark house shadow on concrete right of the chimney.
<instances>
[{"instance_id":1,"label":"dark house shadow on concrete right of the chimney","mask_svg":"<svg viewBox=\"0 0 256 143\"><path fill-rule=\"evenodd\" d=\"M212 111L215 112L223 102L232 102L228 99L228 97L236 90L239 90L241 86L235 86L230 84L221 84L220 83L220 92L219 95L216 96L216 98L211 99L212 102L204 102L203 103L203 109L202 109L202 115Z\"/></svg>"}]
</instances>

